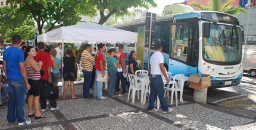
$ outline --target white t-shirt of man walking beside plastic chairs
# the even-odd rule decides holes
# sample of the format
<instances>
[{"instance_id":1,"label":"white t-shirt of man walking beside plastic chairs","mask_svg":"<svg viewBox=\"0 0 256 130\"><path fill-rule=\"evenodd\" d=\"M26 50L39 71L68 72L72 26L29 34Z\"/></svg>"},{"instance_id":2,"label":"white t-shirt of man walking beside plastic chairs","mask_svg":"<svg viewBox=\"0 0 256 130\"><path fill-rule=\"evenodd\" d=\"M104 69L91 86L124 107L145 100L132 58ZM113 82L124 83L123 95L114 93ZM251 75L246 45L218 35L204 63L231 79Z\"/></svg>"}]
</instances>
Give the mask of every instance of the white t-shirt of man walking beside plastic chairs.
<instances>
[{"instance_id":1,"label":"white t-shirt of man walking beside plastic chairs","mask_svg":"<svg viewBox=\"0 0 256 130\"><path fill-rule=\"evenodd\" d=\"M155 51L150 58L151 74L162 75L160 64L164 63L164 56L160 51Z\"/></svg>"}]
</instances>

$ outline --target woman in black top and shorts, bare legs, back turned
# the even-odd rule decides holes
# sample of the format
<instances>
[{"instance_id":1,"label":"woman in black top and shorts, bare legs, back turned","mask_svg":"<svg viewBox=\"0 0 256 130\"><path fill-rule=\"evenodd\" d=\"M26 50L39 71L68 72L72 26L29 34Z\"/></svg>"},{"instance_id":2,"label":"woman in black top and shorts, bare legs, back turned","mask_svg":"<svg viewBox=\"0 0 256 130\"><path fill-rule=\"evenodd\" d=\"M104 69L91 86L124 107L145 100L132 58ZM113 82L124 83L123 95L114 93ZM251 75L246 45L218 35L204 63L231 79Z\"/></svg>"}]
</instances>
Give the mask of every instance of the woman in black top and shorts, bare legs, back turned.
<instances>
[{"instance_id":1,"label":"woman in black top and shorts, bare legs, back turned","mask_svg":"<svg viewBox=\"0 0 256 130\"><path fill-rule=\"evenodd\" d=\"M63 79L64 79L64 92L63 99L67 93L68 81L70 82L71 99L77 99L74 96L74 80L76 79L76 57L73 57L73 53L70 49L67 50L63 57Z\"/></svg>"}]
</instances>

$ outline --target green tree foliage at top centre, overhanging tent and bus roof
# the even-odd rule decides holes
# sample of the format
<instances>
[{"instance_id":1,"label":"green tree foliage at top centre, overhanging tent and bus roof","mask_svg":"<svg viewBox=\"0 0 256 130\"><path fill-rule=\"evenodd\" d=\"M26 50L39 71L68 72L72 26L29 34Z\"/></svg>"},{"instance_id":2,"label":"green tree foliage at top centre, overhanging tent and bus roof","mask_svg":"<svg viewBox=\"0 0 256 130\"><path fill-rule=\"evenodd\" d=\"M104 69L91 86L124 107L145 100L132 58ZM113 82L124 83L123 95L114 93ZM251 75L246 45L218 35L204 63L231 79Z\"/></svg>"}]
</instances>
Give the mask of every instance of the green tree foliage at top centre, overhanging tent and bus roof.
<instances>
[{"instance_id":1,"label":"green tree foliage at top centre, overhanging tent and bus roof","mask_svg":"<svg viewBox=\"0 0 256 130\"><path fill-rule=\"evenodd\" d=\"M111 16L123 17L124 15L129 15L129 8L148 9L150 6L157 6L154 0L83 0L83 2L85 2L85 4L82 4L82 6L93 5L94 12L96 12L95 10L99 10L101 18L99 19L98 24L104 24ZM86 10L86 6L81 9ZM84 13L84 15L86 15L86 13Z\"/></svg>"}]
</instances>

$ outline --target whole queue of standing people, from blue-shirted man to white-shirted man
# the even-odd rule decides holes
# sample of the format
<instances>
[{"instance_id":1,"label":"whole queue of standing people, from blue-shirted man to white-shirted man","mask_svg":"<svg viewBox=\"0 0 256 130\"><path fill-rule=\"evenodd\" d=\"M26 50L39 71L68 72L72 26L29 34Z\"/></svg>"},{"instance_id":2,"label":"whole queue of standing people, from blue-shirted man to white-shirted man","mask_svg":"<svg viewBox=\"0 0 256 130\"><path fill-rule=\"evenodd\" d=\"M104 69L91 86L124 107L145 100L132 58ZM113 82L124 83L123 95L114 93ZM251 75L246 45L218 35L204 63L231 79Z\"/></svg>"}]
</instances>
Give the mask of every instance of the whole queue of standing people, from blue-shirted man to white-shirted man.
<instances>
[{"instance_id":1,"label":"whole queue of standing people, from blue-shirted man to white-shirted man","mask_svg":"<svg viewBox=\"0 0 256 130\"><path fill-rule=\"evenodd\" d=\"M3 58L4 71L8 80L9 94L7 120L10 123L14 123L17 120L18 125L30 124L32 122L24 118L26 89L28 90L27 104L29 108L29 118L45 118L45 115L41 112L46 111L47 102L49 102L49 106L51 107L50 111L59 109L55 96L45 97L44 92L46 86L49 84L58 86L61 60L63 60L64 64L62 74L64 79L64 93L62 98L65 99L68 82L70 82L71 99L77 99L74 95L74 80L76 79L77 61L71 50L67 50L65 56L61 59L62 44L58 44L58 48L51 49L49 53L45 52L46 45L43 42L38 43L38 51L36 51L35 47L26 47L24 48L24 53L20 50L21 44L22 38L19 35L14 35L12 37L12 46L5 50ZM154 97L163 91L157 87L160 84L163 84L160 77L163 74L167 77L165 73L166 71L163 73L163 55L160 55L160 53L158 54L158 51L161 52L161 49L162 47L159 46L155 51L157 53L153 54L152 57L155 57L155 59L151 57L150 80L154 81L154 83L151 83L152 96L150 95L151 98L149 99L148 111L152 112L157 111L154 108ZM136 52L131 51L129 54L129 69L126 71L124 63L126 57L123 50L124 45L120 44L118 45L118 51L115 48L111 48L110 51L108 51L107 68L111 79L110 86L108 86L108 96L112 98L114 98L114 94L126 95L127 90L129 90L126 74L135 74L135 71L138 70L138 63L135 60ZM82 61L82 72L84 74L83 98L92 98L89 91L90 86L92 86L92 79L94 79L93 96L101 100L107 99L102 95L102 82L96 80L98 74L101 74L103 77L105 75L105 44L98 44L98 53L96 53L95 56L91 53L92 45L90 44L85 44L84 50L81 51L80 60ZM79 56L77 55L77 57ZM95 77L93 77L93 70L95 70ZM120 81L122 92L120 92L119 89ZM166 81L168 81L168 79L166 79ZM128 88L126 88L126 86ZM160 102L163 106L163 111L170 112L171 109L168 108L167 103L162 96L163 95L160 96ZM39 109L39 103L41 110Z\"/></svg>"}]
</instances>

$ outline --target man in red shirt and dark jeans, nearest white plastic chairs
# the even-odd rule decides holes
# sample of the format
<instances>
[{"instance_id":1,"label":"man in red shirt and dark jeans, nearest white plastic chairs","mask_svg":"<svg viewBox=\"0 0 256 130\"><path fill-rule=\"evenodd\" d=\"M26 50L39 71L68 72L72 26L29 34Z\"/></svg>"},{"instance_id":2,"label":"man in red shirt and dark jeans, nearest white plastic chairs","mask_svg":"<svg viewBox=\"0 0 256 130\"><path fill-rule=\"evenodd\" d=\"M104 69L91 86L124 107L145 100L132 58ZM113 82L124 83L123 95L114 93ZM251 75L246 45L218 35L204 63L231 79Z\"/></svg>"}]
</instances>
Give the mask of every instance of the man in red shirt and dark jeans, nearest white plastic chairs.
<instances>
[{"instance_id":1,"label":"man in red shirt and dark jeans, nearest white plastic chairs","mask_svg":"<svg viewBox=\"0 0 256 130\"><path fill-rule=\"evenodd\" d=\"M118 52L117 52L117 60L119 61L119 64L121 64L123 71L118 71L117 72L117 81L115 82L115 93L118 94L126 94L126 78L123 76L123 73L126 74L126 66L124 63L124 59L126 58L126 55L124 54L123 50L124 50L124 45L123 44L119 44L118 45ZM121 86L123 88L123 92L120 93L120 89L119 89L119 83L121 80Z\"/></svg>"}]
</instances>

